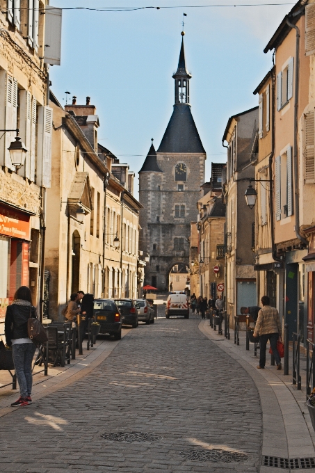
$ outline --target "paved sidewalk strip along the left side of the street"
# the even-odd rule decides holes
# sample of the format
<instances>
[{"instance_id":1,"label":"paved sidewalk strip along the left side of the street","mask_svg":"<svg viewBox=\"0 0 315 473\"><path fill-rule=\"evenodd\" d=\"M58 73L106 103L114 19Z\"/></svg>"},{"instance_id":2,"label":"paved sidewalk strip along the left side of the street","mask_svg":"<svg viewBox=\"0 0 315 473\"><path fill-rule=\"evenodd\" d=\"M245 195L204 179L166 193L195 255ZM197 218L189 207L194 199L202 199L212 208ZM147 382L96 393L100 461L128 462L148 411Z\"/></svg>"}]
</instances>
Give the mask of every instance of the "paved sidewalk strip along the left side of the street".
<instances>
[{"instance_id":1,"label":"paved sidewalk strip along the left side of the street","mask_svg":"<svg viewBox=\"0 0 315 473\"><path fill-rule=\"evenodd\" d=\"M122 332L122 338L125 337L129 331L130 329L124 330ZM38 399L48 396L49 394L58 391L62 387L71 385L76 380L83 378L83 376L86 376L88 373L90 373L90 371L92 371L92 369L106 360L106 358L112 353L119 343L120 341L104 340L96 348L90 349L90 353L88 353L88 355L86 355L83 360L77 360L75 364L70 363L69 367L65 369L65 371L61 371L55 376L45 377L40 383L33 385L32 399L37 401ZM13 410L19 409L10 407L10 404L15 401L18 395L19 389L17 387L17 390L14 391L13 394L1 399L0 417L13 412Z\"/></svg>"}]
</instances>

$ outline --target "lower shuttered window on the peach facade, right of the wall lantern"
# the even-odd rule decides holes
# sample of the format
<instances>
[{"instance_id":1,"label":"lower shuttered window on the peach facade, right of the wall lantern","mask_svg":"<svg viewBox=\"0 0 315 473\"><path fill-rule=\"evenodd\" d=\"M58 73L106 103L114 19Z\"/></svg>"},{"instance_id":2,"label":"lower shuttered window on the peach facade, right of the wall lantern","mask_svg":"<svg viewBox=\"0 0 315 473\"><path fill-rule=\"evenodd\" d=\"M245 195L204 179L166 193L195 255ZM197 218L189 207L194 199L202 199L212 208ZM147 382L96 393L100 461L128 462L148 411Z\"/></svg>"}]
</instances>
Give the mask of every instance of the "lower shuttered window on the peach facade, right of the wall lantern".
<instances>
[{"instance_id":1,"label":"lower shuttered window on the peach facade, right of the wall lantern","mask_svg":"<svg viewBox=\"0 0 315 473\"><path fill-rule=\"evenodd\" d=\"M293 214L292 149L275 159L275 218L277 221Z\"/></svg>"}]
</instances>

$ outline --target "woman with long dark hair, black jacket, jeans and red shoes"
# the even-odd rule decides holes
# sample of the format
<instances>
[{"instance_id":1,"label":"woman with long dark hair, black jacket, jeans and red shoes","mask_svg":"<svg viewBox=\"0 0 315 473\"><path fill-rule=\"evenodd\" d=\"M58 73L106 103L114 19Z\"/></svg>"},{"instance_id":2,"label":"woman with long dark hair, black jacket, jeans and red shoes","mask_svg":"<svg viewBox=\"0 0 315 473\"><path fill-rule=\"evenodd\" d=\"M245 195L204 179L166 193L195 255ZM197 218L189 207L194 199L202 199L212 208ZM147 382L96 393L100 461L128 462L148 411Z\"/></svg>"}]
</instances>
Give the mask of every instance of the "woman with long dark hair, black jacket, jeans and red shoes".
<instances>
[{"instance_id":1,"label":"woman with long dark hair, black jacket, jeans and red shoes","mask_svg":"<svg viewBox=\"0 0 315 473\"><path fill-rule=\"evenodd\" d=\"M6 308L4 331L7 346L12 346L15 374L19 383L19 399L12 407L29 406L32 403L32 361L36 350L29 338L27 322L36 317L29 287L21 286L15 292L13 303Z\"/></svg>"}]
</instances>

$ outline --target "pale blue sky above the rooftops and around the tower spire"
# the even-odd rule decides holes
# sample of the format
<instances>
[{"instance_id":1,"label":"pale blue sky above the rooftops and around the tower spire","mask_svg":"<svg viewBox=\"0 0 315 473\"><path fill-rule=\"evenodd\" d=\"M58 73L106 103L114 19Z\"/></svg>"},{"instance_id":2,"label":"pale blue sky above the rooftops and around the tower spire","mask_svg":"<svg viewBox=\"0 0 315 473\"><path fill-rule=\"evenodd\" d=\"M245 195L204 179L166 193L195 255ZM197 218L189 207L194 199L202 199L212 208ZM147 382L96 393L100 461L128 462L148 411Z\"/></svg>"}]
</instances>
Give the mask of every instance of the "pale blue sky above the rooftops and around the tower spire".
<instances>
[{"instance_id":1,"label":"pale blue sky above the rooftops and around the tower spire","mask_svg":"<svg viewBox=\"0 0 315 473\"><path fill-rule=\"evenodd\" d=\"M234 0L235 2L236 0ZM258 3L282 3L259 6ZM133 11L63 10L61 65L50 67L60 104L86 96L97 107L99 143L138 171L154 138L159 147L174 104L174 79L184 18L191 111L211 162L225 162L222 137L231 115L258 104L253 95L272 67L264 47L293 3L248 0L51 0L60 8L145 7ZM211 8L200 8L202 6ZM222 7L214 6L220 5ZM172 8L163 8L172 7ZM175 8L179 7L179 8ZM186 13L186 17L183 17ZM69 99L68 99L69 100ZM136 198L138 184L136 184Z\"/></svg>"}]
</instances>

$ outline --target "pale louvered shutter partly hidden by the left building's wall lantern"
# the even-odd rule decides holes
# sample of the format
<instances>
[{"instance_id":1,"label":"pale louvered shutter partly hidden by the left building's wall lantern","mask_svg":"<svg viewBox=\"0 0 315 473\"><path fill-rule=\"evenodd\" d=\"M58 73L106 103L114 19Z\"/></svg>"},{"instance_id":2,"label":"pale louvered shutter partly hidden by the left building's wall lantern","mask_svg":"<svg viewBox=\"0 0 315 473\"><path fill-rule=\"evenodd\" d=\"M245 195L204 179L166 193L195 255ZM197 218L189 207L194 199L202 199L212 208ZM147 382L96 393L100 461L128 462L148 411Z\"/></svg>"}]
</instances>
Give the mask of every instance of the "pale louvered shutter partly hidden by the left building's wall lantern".
<instances>
[{"instance_id":1,"label":"pale louvered shutter partly hidden by the left building's wall lantern","mask_svg":"<svg viewBox=\"0 0 315 473\"><path fill-rule=\"evenodd\" d=\"M21 176L31 179L30 155L31 155L31 94L27 90L19 93L19 136L26 146L26 157L24 166L19 169Z\"/></svg>"}]
</instances>

